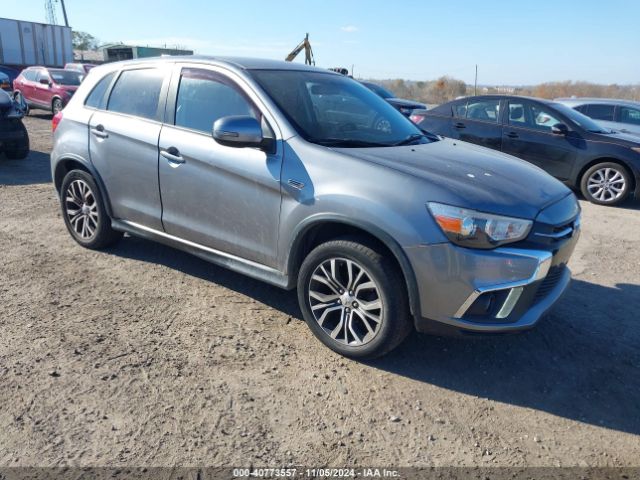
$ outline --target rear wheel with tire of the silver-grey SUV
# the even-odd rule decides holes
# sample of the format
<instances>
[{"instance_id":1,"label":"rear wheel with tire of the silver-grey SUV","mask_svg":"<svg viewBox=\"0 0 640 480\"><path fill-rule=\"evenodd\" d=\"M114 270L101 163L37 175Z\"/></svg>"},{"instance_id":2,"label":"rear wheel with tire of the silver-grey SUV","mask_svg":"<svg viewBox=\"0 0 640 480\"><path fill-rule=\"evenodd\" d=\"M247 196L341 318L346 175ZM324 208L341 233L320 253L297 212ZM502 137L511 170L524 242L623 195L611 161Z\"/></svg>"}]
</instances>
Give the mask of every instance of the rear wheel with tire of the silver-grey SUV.
<instances>
[{"instance_id":1,"label":"rear wheel with tire of the silver-grey SUV","mask_svg":"<svg viewBox=\"0 0 640 480\"><path fill-rule=\"evenodd\" d=\"M102 196L93 177L71 170L60 188L62 217L73 239L85 248L99 250L117 242L122 233L111 228Z\"/></svg>"}]
</instances>

